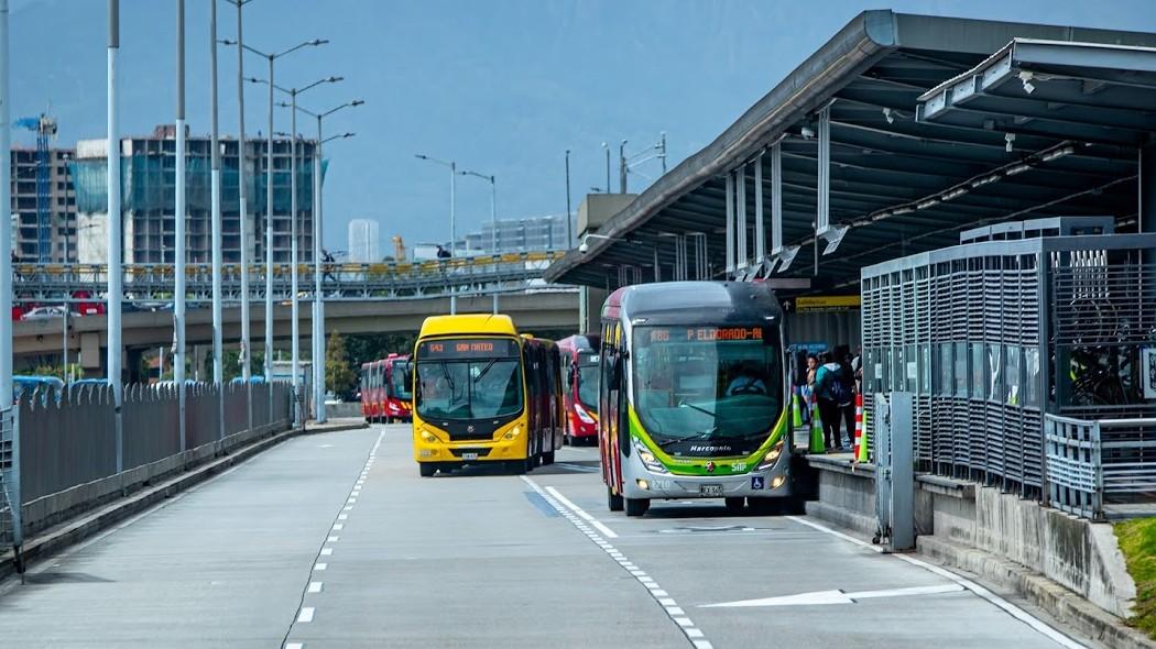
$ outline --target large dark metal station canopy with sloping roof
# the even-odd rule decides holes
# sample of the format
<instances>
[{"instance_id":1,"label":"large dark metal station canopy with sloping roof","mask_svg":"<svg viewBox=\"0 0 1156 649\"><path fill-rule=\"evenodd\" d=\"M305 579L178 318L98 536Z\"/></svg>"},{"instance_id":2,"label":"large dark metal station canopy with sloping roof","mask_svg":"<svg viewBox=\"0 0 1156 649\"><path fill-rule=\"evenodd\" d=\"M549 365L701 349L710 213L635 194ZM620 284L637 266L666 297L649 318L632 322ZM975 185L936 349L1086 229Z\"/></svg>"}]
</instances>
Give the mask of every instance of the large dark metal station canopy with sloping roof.
<instances>
[{"instance_id":1,"label":"large dark metal station canopy with sloping roof","mask_svg":"<svg viewBox=\"0 0 1156 649\"><path fill-rule=\"evenodd\" d=\"M822 291L979 225L1112 216L1147 231L1154 47L1156 33L865 12L547 279L614 289L652 281L657 262L660 279ZM728 271L728 214L746 269Z\"/></svg>"}]
</instances>

